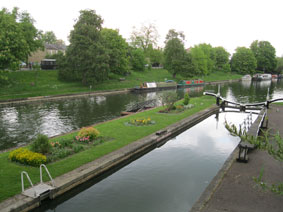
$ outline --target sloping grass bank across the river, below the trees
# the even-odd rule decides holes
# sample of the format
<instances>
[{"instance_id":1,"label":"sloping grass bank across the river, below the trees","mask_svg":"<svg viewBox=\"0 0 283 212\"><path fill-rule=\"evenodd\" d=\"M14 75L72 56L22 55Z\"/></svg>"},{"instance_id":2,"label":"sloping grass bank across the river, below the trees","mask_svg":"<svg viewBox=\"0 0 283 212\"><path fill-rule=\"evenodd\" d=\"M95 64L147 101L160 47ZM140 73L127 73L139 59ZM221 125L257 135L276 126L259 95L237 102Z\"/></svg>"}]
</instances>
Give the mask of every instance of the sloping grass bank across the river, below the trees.
<instances>
[{"instance_id":1,"label":"sloping grass bank across the river, below the trees","mask_svg":"<svg viewBox=\"0 0 283 212\"><path fill-rule=\"evenodd\" d=\"M0 87L0 100L19 99L35 96L50 96L58 94L82 93L89 91L114 90L133 88L142 82L161 82L165 79L173 79L172 75L165 69L153 69L145 72L132 72L123 77L125 81L119 81L121 76L111 75L110 80L95 84L90 90L89 86L83 86L80 82L62 82L57 79L58 71L18 71L7 73L12 84ZM213 73L203 77L205 81L218 81L228 79L239 79L241 75ZM199 77L192 77L197 79ZM177 76L175 81L183 79Z\"/></svg>"}]
</instances>

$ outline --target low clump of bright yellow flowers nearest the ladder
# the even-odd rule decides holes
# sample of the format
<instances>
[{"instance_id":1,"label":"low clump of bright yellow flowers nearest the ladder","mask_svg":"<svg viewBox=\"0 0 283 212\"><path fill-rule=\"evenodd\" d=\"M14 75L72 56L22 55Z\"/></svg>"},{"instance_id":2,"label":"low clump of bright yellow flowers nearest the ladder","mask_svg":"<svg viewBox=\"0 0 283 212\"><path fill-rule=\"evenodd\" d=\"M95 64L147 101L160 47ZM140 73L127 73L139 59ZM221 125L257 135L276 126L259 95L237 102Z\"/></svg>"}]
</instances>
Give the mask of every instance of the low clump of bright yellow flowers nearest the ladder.
<instances>
[{"instance_id":1,"label":"low clump of bright yellow flowers nearest the ladder","mask_svg":"<svg viewBox=\"0 0 283 212\"><path fill-rule=\"evenodd\" d=\"M46 163L46 156L40 153L32 152L25 148L18 148L10 152L9 159L24 165L40 166Z\"/></svg>"}]
</instances>

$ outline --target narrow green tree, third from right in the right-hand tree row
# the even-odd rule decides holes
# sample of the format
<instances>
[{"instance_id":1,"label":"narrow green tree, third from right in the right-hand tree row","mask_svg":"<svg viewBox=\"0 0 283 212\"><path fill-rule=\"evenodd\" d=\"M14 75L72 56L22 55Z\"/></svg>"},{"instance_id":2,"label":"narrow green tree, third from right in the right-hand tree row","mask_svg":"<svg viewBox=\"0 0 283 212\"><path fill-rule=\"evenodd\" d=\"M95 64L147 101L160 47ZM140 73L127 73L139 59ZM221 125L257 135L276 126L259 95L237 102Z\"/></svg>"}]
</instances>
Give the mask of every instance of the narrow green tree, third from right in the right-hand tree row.
<instances>
[{"instance_id":1,"label":"narrow green tree, third from right in the right-hand tree row","mask_svg":"<svg viewBox=\"0 0 283 212\"><path fill-rule=\"evenodd\" d=\"M229 65L229 52L227 52L223 47L215 47L215 69L223 72L227 72L230 70Z\"/></svg>"}]
</instances>

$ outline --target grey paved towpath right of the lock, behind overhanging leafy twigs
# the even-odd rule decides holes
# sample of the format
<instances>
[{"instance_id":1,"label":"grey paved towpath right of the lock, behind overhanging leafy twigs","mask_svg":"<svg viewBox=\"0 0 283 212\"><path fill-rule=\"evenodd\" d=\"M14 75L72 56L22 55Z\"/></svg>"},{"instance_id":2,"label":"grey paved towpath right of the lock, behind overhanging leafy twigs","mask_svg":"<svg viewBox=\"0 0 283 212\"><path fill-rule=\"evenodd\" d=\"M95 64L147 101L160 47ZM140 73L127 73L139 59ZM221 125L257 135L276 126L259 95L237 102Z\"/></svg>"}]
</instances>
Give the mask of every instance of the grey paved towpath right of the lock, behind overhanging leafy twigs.
<instances>
[{"instance_id":1,"label":"grey paved towpath right of the lock, behind overhanging leafy twigs","mask_svg":"<svg viewBox=\"0 0 283 212\"><path fill-rule=\"evenodd\" d=\"M279 131L283 137L283 107L271 105L267 111L268 129L272 133ZM258 149L249 154L248 163L236 162L238 148L226 161L223 169L207 187L191 212L211 211L257 211L281 212L283 197L257 186L254 177L260 175L269 185L282 183L283 164L275 160L266 151Z\"/></svg>"}]
</instances>

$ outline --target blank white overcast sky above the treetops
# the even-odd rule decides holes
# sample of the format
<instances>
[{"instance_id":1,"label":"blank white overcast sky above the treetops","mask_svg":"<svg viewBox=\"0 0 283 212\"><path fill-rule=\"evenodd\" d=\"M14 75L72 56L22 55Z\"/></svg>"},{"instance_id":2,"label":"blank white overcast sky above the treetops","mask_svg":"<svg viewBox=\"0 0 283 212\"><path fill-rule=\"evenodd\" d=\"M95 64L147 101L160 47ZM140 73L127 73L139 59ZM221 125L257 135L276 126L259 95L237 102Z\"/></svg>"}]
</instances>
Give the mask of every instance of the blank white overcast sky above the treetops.
<instances>
[{"instance_id":1,"label":"blank white overcast sky above the treetops","mask_svg":"<svg viewBox=\"0 0 283 212\"><path fill-rule=\"evenodd\" d=\"M133 26L154 23L159 44L169 29L183 31L186 48L200 43L223 46L231 54L254 40L269 41L283 56L283 0L1 0L0 7L19 7L35 19L35 26L53 31L68 43L79 11L94 9L103 27L119 29L128 39Z\"/></svg>"}]
</instances>

